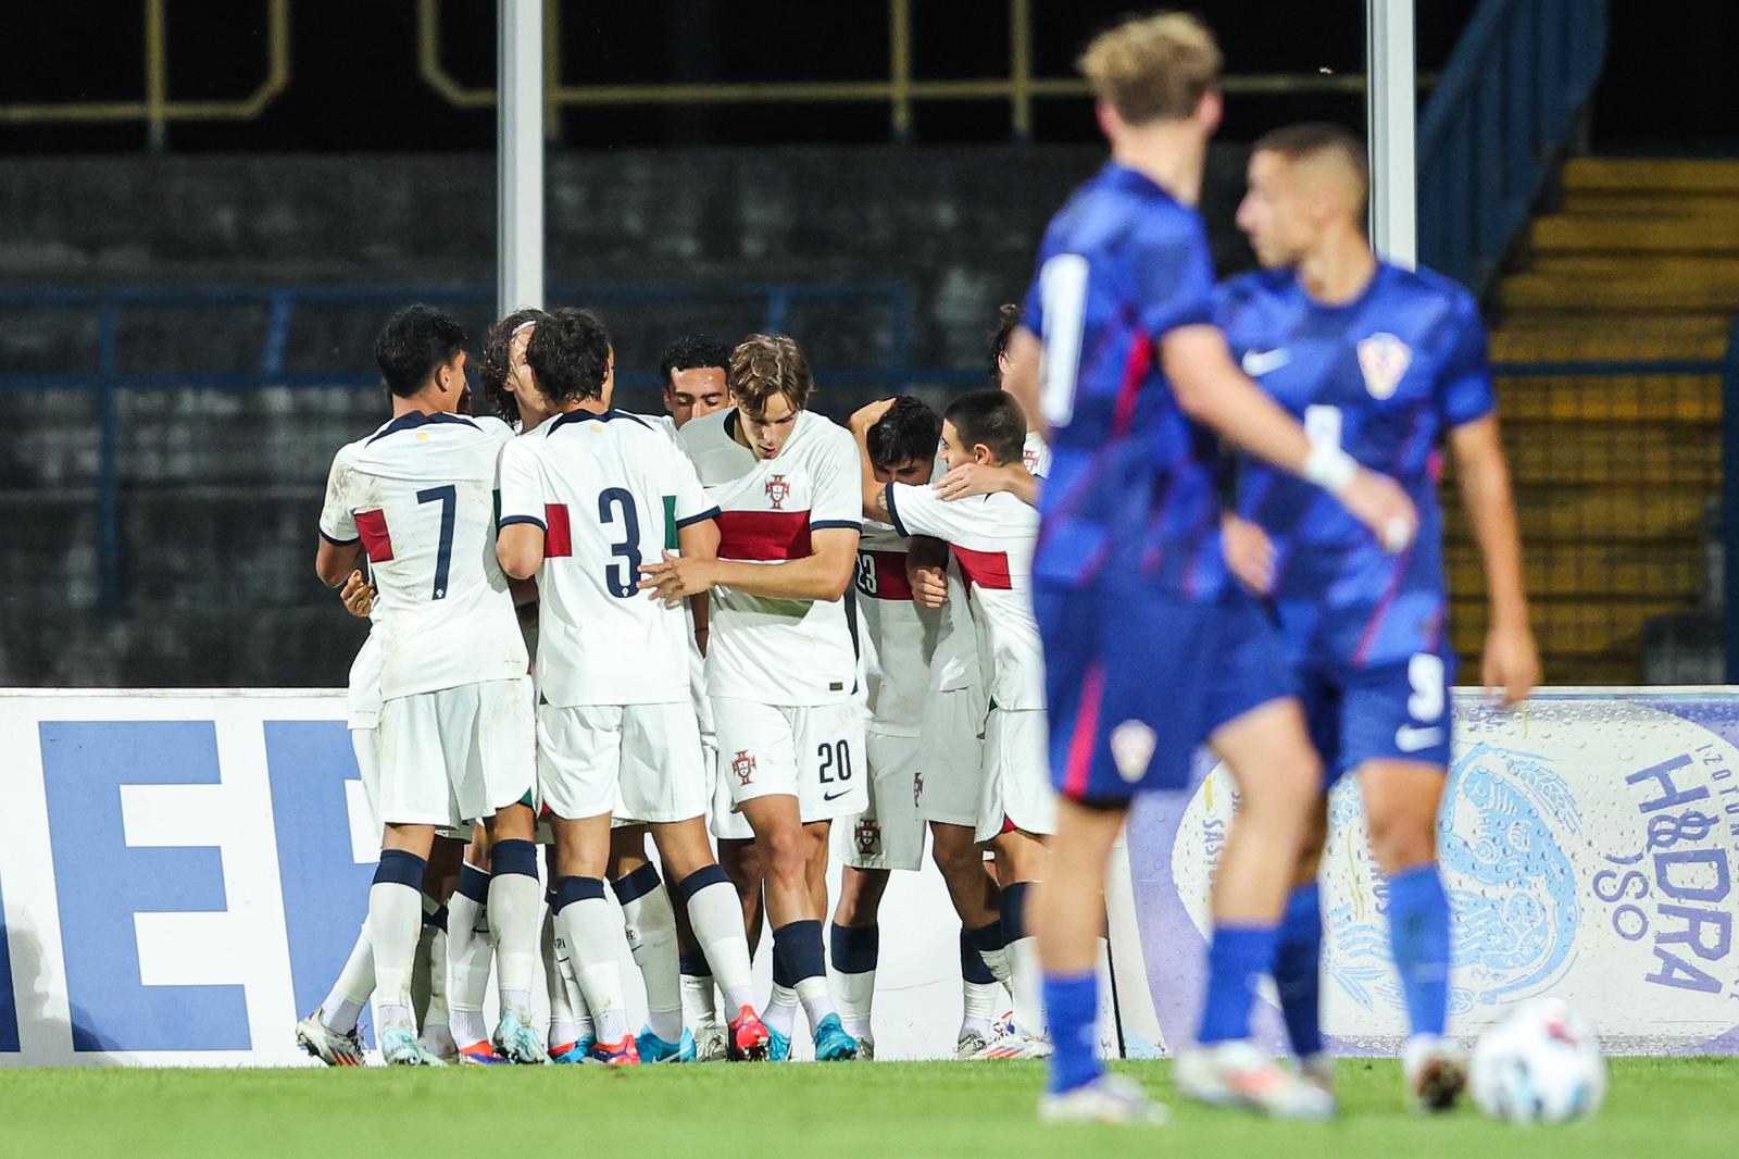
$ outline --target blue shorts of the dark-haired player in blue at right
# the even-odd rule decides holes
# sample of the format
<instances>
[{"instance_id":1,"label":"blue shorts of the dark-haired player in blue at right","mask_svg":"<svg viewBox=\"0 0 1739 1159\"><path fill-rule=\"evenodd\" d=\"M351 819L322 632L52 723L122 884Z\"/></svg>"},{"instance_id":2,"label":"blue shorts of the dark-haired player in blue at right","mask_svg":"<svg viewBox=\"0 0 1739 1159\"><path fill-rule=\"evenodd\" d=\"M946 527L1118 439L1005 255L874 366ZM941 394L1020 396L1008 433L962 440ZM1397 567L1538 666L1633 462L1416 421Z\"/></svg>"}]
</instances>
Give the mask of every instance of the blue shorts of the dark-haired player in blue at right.
<instances>
[{"instance_id":1,"label":"blue shorts of the dark-haired player in blue at right","mask_svg":"<svg viewBox=\"0 0 1739 1159\"><path fill-rule=\"evenodd\" d=\"M1297 675L1325 787L1365 760L1449 766L1454 653L1419 653L1372 668L1308 663Z\"/></svg>"}]
</instances>

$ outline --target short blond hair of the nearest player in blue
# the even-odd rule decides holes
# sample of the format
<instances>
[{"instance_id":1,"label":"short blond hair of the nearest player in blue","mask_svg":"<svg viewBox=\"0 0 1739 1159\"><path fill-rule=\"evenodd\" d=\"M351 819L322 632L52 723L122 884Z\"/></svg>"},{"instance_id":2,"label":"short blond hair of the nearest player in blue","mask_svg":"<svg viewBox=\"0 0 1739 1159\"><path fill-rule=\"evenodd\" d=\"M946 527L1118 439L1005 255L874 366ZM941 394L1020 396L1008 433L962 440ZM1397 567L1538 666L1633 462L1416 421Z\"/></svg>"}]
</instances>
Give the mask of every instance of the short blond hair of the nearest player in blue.
<instances>
[{"instance_id":1,"label":"short blond hair of the nearest player in blue","mask_svg":"<svg viewBox=\"0 0 1739 1159\"><path fill-rule=\"evenodd\" d=\"M1092 38L1075 63L1094 96L1125 124L1177 120L1195 113L1219 84L1214 33L1188 12L1155 12Z\"/></svg>"}]
</instances>

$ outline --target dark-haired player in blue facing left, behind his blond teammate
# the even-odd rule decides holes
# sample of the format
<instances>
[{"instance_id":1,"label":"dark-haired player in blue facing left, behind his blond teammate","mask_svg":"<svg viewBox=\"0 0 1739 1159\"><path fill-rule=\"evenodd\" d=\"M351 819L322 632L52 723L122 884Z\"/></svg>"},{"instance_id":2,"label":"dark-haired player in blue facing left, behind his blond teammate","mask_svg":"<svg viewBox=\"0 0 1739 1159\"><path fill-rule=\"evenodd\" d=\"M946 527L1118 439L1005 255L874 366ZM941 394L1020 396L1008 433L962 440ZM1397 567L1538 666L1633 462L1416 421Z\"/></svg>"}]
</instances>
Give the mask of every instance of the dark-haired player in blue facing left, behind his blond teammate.
<instances>
[{"instance_id":1,"label":"dark-haired player in blue facing left, behind his blond teammate","mask_svg":"<svg viewBox=\"0 0 1739 1159\"><path fill-rule=\"evenodd\" d=\"M1240 520L1226 527L1228 560L1278 614L1323 788L1341 774L1358 778L1412 1028L1407 1082L1419 1105L1443 1109L1466 1072L1443 1039L1450 936L1435 842L1456 672L1436 501L1445 440L1492 600L1483 682L1515 705L1539 679L1485 327L1464 287L1370 252L1360 221L1365 148L1351 132L1271 132L1256 143L1249 176L1238 226L1266 270L1221 285L1214 320L1243 369L1303 418L1316 444L1400 479L1419 534L1410 550L1386 555L1315 487L1250 463ZM1325 802L1313 814L1273 973L1304 1074L1332 1091L1318 1027Z\"/></svg>"}]
</instances>

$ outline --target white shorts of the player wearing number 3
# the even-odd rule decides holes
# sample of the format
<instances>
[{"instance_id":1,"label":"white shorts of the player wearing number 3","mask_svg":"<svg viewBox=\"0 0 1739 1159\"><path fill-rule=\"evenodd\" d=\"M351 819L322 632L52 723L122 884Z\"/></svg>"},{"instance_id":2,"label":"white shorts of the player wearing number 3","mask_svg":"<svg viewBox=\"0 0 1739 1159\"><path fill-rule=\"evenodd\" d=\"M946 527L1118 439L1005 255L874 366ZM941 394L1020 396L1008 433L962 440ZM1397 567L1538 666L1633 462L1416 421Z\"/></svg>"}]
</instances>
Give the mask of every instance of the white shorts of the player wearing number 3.
<instances>
[{"instance_id":1,"label":"white shorts of the player wearing number 3","mask_svg":"<svg viewBox=\"0 0 1739 1159\"><path fill-rule=\"evenodd\" d=\"M602 814L649 823L706 816L694 705L541 705L537 781L550 811L570 821Z\"/></svg>"}]
</instances>

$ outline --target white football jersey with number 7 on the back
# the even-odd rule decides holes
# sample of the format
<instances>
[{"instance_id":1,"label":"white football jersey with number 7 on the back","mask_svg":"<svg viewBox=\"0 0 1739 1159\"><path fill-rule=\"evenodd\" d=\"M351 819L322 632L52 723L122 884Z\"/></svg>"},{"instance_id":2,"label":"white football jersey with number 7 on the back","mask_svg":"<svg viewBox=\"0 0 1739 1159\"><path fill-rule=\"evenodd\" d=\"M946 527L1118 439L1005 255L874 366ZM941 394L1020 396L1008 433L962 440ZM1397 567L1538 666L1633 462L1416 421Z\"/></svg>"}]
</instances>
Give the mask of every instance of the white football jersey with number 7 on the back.
<instances>
[{"instance_id":1,"label":"white football jersey with number 7 on the back","mask_svg":"<svg viewBox=\"0 0 1739 1159\"><path fill-rule=\"evenodd\" d=\"M494 418L402 414L339 447L320 534L362 539L377 588L381 698L525 675L525 640L496 560Z\"/></svg>"}]
</instances>

